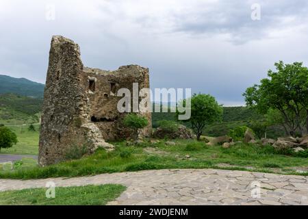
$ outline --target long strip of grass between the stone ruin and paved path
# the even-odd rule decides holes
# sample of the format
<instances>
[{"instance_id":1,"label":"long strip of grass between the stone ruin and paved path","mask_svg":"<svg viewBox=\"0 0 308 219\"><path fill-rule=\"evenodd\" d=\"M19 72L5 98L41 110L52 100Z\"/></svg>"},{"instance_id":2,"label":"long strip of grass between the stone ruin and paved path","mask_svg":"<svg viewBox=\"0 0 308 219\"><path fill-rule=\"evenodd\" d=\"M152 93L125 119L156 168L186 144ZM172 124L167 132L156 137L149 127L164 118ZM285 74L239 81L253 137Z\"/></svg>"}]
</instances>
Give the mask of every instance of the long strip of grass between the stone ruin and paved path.
<instances>
[{"instance_id":1,"label":"long strip of grass between the stone ruin and paved path","mask_svg":"<svg viewBox=\"0 0 308 219\"><path fill-rule=\"evenodd\" d=\"M0 178L42 179L47 177L77 177L106 172L125 172L164 168L222 168L257 172L308 175L307 151L294 157L290 151L275 151L272 146L236 144L230 149L207 146L204 142L178 140L177 146L145 142L126 146L113 142L116 150L107 153L100 149L94 155L40 168L37 164L0 170ZM304 170L298 172L296 170Z\"/></svg>"}]
</instances>

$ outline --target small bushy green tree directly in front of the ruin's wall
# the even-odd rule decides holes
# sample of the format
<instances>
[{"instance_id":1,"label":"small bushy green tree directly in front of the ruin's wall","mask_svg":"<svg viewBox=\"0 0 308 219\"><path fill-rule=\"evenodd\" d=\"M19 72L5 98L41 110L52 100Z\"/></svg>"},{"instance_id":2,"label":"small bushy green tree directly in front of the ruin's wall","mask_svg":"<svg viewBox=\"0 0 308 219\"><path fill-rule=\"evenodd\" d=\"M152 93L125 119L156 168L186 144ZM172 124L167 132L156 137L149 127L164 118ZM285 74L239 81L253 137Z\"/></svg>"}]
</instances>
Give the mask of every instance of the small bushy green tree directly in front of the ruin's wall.
<instances>
[{"instance_id":1,"label":"small bushy green tree directly in front of the ruin's wall","mask_svg":"<svg viewBox=\"0 0 308 219\"><path fill-rule=\"evenodd\" d=\"M125 127L132 130L132 136L135 140L138 139L140 130L149 124L149 121L144 116L138 114L127 114L123 121Z\"/></svg>"}]
</instances>

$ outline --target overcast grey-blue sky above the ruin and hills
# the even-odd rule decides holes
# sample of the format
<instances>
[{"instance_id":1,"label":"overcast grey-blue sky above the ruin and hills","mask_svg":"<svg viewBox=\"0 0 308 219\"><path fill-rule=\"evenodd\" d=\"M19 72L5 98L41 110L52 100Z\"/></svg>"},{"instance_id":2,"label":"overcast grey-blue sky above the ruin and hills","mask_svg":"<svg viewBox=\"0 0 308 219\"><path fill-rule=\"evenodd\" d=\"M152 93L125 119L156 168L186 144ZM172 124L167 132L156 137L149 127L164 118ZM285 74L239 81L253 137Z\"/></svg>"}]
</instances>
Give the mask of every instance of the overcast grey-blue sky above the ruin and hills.
<instances>
[{"instance_id":1,"label":"overcast grey-blue sky above the ruin and hills","mask_svg":"<svg viewBox=\"0 0 308 219\"><path fill-rule=\"evenodd\" d=\"M53 35L77 42L85 66L140 64L151 88L192 88L224 105L244 104L274 62L308 65L305 0L0 0L0 27L0 74L40 83Z\"/></svg>"}]
</instances>

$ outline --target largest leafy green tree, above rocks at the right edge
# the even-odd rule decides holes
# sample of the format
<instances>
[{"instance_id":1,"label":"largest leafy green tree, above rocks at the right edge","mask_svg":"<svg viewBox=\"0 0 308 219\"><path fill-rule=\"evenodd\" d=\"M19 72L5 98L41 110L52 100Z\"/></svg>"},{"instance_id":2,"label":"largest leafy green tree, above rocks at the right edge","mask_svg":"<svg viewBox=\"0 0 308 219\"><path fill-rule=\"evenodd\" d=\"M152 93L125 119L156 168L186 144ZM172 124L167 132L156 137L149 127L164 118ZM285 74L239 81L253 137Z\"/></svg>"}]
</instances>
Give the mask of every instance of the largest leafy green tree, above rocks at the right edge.
<instances>
[{"instance_id":1,"label":"largest leafy green tree, above rocks at the right edge","mask_svg":"<svg viewBox=\"0 0 308 219\"><path fill-rule=\"evenodd\" d=\"M301 118L305 114L308 131L308 68L301 62L275 63L277 71L268 70L268 78L260 85L247 88L243 94L249 107L266 114L270 108L278 110L290 135L303 133Z\"/></svg>"}]
</instances>

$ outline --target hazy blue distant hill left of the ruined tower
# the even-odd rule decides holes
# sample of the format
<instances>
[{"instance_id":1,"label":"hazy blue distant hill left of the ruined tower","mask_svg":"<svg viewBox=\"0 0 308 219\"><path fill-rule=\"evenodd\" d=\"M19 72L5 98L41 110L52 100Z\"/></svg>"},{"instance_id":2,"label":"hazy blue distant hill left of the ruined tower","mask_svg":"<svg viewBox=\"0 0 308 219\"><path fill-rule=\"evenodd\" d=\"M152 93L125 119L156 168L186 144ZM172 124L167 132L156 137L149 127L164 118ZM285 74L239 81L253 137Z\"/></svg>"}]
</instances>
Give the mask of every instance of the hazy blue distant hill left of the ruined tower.
<instances>
[{"instance_id":1,"label":"hazy blue distant hill left of the ruined tower","mask_svg":"<svg viewBox=\"0 0 308 219\"><path fill-rule=\"evenodd\" d=\"M30 81L25 78L0 75L0 94L5 93L42 98L44 94L44 84Z\"/></svg>"}]
</instances>

